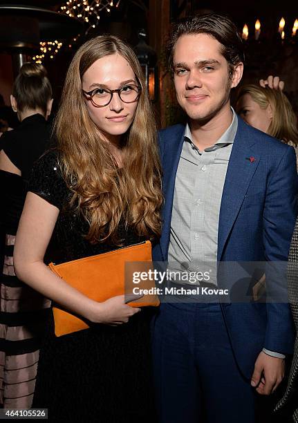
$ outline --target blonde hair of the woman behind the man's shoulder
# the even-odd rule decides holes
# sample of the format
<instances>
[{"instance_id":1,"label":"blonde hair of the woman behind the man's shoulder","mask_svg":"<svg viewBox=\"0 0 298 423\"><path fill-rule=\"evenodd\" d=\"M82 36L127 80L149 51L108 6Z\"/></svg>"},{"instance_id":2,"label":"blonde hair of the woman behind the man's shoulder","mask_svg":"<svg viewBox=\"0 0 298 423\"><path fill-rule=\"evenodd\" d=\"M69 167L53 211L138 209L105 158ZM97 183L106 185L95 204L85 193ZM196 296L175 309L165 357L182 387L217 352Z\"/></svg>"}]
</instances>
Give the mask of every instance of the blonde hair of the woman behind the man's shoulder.
<instances>
[{"instance_id":1,"label":"blonde hair of the woman behind the man's shoulder","mask_svg":"<svg viewBox=\"0 0 298 423\"><path fill-rule=\"evenodd\" d=\"M267 131L269 135L283 142L292 141L298 145L297 117L285 94L272 88L248 84L239 88L236 102L245 94L249 94L261 109L271 106L272 121Z\"/></svg>"}]
</instances>

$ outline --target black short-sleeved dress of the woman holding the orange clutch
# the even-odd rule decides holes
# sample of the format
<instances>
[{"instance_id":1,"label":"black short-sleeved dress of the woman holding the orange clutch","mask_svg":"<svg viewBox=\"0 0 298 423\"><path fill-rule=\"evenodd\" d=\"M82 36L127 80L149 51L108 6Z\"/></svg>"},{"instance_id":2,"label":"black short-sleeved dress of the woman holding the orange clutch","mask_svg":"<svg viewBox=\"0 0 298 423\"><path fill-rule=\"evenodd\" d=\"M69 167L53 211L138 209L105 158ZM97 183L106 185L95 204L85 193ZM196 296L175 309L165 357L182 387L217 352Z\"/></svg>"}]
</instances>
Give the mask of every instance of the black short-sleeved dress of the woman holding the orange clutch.
<instances>
[{"instance_id":1,"label":"black short-sleeved dress of the woman holding the orange clutch","mask_svg":"<svg viewBox=\"0 0 298 423\"><path fill-rule=\"evenodd\" d=\"M117 248L91 245L84 239L86 222L65 207L71 193L55 151L35 165L29 190L60 210L46 263L59 264ZM120 236L125 246L144 239L123 227ZM53 422L155 422L149 339L153 312L145 307L129 323L97 324L62 337L55 337L51 313L40 350L33 406L48 408Z\"/></svg>"}]
</instances>

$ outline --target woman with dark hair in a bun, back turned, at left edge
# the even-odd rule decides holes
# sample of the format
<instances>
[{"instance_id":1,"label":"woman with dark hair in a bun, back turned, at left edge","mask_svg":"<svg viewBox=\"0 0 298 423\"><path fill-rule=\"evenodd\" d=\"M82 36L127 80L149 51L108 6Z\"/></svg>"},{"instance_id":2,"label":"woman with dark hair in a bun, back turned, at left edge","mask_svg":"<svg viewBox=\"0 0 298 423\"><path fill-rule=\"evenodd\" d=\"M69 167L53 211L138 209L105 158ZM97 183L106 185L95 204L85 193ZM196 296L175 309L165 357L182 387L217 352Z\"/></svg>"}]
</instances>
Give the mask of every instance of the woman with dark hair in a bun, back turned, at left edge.
<instances>
[{"instance_id":1,"label":"woman with dark hair in a bun, back turned, at left edge","mask_svg":"<svg viewBox=\"0 0 298 423\"><path fill-rule=\"evenodd\" d=\"M10 96L21 122L1 136L1 233L5 234L1 275L0 406L30 408L39 345L50 301L17 279L13 250L32 164L46 150L52 87L43 66L26 63Z\"/></svg>"}]
</instances>

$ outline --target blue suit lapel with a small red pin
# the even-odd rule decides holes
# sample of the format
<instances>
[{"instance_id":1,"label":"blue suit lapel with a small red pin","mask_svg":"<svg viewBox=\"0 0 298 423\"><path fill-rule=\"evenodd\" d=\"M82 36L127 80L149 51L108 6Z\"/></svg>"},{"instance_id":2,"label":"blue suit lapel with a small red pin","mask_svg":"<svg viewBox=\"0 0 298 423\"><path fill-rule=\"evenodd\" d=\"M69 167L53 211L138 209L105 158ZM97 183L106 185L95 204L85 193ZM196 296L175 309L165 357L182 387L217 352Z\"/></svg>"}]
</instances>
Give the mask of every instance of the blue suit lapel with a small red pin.
<instances>
[{"instance_id":1,"label":"blue suit lapel with a small red pin","mask_svg":"<svg viewBox=\"0 0 298 423\"><path fill-rule=\"evenodd\" d=\"M223 248L239 213L246 191L259 165L260 157L253 148L255 141L250 138L248 127L238 119L238 130L230 156L221 198L218 223L217 259L221 260Z\"/></svg>"}]
</instances>

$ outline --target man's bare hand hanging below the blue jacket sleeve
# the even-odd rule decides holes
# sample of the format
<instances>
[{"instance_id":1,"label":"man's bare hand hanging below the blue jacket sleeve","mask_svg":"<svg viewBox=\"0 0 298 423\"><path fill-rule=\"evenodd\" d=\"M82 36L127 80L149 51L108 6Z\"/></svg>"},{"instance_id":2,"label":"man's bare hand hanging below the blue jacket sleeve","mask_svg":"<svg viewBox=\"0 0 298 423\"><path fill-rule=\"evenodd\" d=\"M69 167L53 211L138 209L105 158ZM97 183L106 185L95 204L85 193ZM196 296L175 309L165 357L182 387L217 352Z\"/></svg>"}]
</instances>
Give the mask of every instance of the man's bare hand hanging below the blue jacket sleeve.
<instances>
[{"instance_id":1,"label":"man's bare hand hanging below the blue jacket sleeve","mask_svg":"<svg viewBox=\"0 0 298 423\"><path fill-rule=\"evenodd\" d=\"M261 395L270 395L281 383L285 374L285 360L271 357L266 353L259 353L254 364L251 385Z\"/></svg>"}]
</instances>

